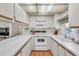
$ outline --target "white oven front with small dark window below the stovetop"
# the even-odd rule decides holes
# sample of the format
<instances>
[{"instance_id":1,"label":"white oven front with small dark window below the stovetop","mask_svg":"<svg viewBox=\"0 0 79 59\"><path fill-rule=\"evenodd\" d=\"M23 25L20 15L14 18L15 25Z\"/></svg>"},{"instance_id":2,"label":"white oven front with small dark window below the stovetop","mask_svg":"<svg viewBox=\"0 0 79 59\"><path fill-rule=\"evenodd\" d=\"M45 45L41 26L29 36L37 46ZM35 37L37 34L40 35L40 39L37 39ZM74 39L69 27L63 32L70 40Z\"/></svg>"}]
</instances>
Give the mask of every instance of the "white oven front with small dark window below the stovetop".
<instances>
[{"instance_id":1,"label":"white oven front with small dark window below the stovetop","mask_svg":"<svg viewBox=\"0 0 79 59\"><path fill-rule=\"evenodd\" d=\"M47 50L47 38L46 37L36 37L35 50Z\"/></svg>"}]
</instances>

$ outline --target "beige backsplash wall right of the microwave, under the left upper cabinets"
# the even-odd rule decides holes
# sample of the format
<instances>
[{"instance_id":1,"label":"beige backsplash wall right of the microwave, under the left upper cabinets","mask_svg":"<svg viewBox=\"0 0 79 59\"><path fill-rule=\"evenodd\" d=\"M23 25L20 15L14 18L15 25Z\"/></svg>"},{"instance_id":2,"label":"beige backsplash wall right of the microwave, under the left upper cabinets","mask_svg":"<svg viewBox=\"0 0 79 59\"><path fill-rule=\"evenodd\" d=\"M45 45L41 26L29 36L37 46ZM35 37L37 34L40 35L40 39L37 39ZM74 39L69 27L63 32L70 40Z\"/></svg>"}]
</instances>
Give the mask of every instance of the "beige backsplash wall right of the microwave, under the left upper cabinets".
<instances>
[{"instance_id":1,"label":"beige backsplash wall right of the microwave, under the left upper cabinets","mask_svg":"<svg viewBox=\"0 0 79 59\"><path fill-rule=\"evenodd\" d=\"M28 28L27 25L22 23L13 23L12 24L12 35L19 35L25 33L26 28Z\"/></svg>"}]
</instances>

